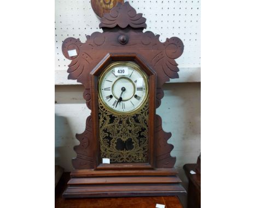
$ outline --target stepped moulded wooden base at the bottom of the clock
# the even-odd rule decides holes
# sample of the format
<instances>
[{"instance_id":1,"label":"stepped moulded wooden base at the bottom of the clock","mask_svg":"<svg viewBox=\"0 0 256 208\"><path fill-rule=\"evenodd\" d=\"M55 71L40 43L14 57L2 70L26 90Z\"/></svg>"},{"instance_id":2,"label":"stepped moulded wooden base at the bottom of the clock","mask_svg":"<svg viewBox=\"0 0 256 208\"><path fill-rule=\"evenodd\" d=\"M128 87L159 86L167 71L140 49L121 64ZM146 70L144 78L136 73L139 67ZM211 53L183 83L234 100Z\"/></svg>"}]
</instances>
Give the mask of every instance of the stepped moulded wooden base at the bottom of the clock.
<instances>
[{"instance_id":1,"label":"stepped moulded wooden base at the bottom of the clock","mask_svg":"<svg viewBox=\"0 0 256 208\"><path fill-rule=\"evenodd\" d=\"M145 197L184 194L173 168L155 170L74 170L65 198Z\"/></svg>"}]
</instances>

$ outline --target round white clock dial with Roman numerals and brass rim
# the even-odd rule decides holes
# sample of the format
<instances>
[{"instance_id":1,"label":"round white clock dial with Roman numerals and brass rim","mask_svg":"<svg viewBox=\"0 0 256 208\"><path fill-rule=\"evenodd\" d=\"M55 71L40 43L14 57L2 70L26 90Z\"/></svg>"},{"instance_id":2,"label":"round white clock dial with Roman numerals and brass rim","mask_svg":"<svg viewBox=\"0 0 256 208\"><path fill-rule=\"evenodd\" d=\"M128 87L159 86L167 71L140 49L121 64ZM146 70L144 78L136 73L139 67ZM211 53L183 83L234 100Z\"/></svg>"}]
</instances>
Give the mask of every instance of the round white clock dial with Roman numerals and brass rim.
<instances>
[{"instance_id":1,"label":"round white clock dial with Roman numerals and brass rim","mask_svg":"<svg viewBox=\"0 0 256 208\"><path fill-rule=\"evenodd\" d=\"M98 91L110 111L131 113L147 99L148 78L137 64L117 62L109 65L101 75Z\"/></svg>"}]
</instances>

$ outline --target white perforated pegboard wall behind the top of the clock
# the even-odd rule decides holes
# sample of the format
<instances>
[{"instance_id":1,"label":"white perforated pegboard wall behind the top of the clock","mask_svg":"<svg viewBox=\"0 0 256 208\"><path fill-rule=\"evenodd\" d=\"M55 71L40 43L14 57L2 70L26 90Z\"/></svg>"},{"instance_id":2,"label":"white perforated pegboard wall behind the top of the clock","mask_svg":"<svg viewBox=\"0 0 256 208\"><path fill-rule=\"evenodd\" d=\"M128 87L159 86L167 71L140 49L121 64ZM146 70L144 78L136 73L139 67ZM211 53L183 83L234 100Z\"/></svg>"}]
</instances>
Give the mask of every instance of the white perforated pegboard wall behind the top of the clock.
<instances>
[{"instance_id":1,"label":"white perforated pegboard wall behind the top of the clock","mask_svg":"<svg viewBox=\"0 0 256 208\"><path fill-rule=\"evenodd\" d=\"M151 30L159 34L162 42L172 36L182 39L184 52L176 59L182 73L179 80L199 81L200 1L139 0L129 3L137 13L142 13L147 19L147 29L143 32ZM90 1L55 0L55 84L75 84L67 80L66 70L70 60L62 54L63 40L74 37L85 42L86 35L96 31L102 32L102 29L98 28L99 24L100 19L92 10ZM182 68L185 68L185 71Z\"/></svg>"}]
</instances>

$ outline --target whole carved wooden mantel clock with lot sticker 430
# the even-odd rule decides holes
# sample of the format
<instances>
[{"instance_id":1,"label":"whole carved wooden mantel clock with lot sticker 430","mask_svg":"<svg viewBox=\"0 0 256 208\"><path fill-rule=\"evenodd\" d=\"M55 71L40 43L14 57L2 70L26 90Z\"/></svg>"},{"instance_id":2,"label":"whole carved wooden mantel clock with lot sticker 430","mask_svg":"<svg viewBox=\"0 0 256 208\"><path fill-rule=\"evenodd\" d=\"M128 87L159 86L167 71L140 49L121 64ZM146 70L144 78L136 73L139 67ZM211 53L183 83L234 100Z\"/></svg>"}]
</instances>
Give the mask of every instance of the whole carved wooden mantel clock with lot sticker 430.
<instances>
[{"instance_id":1,"label":"whole carved wooden mantel clock with lot sticker 430","mask_svg":"<svg viewBox=\"0 0 256 208\"><path fill-rule=\"evenodd\" d=\"M146 19L128 2L105 13L103 32L85 43L67 38L62 51L72 60L68 78L84 85L91 109L86 128L76 138L77 157L63 197L124 197L185 193L155 109L162 85L178 78L174 59L181 56L179 38L159 41L147 31Z\"/></svg>"}]
</instances>

